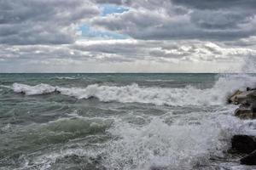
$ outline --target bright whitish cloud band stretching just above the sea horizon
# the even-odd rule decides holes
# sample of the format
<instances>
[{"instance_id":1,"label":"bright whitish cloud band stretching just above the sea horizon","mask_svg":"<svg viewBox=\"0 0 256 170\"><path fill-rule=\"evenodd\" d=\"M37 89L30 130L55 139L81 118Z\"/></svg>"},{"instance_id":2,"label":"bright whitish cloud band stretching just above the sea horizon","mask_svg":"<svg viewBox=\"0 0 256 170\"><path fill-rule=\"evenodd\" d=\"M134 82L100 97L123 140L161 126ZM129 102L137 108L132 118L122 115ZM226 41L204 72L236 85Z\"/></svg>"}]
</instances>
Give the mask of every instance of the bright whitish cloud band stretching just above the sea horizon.
<instances>
[{"instance_id":1,"label":"bright whitish cloud band stretching just above the sea horizon","mask_svg":"<svg viewBox=\"0 0 256 170\"><path fill-rule=\"evenodd\" d=\"M98 68L96 65L108 65L108 67L102 66L105 68L104 70L100 69L100 71L107 72L129 71L129 69L131 71L157 72L240 71L241 61L247 56L256 54L256 50L251 48L233 48L214 42L134 39L77 41L73 44L55 46L4 45L0 46L0 50L2 53L0 59L4 59L0 61L1 71L4 71L4 65L16 62L26 65L26 68L31 68L36 64L38 68L42 68L41 71L44 71L45 66L49 65L55 65L56 70L65 66L68 71L70 69L83 72L97 71L96 69L90 70L90 67L86 66L89 63L95 68ZM140 64L141 67L131 66ZM188 67L179 68L183 65L188 65ZM234 65L236 68L233 68ZM152 68L148 68L148 66L152 66ZM19 69L18 67L16 69ZM139 69L136 70L136 68Z\"/></svg>"}]
</instances>

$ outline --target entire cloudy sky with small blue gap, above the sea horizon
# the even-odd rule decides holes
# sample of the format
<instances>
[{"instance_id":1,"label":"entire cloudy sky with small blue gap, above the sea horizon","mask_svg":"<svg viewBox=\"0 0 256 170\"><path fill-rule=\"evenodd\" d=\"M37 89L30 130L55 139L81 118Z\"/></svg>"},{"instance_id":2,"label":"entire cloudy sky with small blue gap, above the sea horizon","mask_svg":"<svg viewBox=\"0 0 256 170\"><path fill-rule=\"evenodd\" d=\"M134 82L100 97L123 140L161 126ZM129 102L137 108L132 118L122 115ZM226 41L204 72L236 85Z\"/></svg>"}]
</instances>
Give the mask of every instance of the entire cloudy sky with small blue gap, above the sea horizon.
<instances>
[{"instance_id":1,"label":"entire cloudy sky with small blue gap, above the sea horizon","mask_svg":"<svg viewBox=\"0 0 256 170\"><path fill-rule=\"evenodd\" d=\"M0 0L0 72L256 72L255 0Z\"/></svg>"}]
</instances>

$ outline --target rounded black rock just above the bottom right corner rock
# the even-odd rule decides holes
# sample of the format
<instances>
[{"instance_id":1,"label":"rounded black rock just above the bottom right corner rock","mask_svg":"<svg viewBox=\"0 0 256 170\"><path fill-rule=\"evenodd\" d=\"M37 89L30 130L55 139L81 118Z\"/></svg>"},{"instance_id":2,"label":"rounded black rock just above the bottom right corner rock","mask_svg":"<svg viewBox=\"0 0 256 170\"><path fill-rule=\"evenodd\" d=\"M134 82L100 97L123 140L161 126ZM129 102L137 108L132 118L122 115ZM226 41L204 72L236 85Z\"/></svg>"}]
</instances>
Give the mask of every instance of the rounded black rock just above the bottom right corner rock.
<instances>
[{"instance_id":1,"label":"rounded black rock just above the bottom right corner rock","mask_svg":"<svg viewBox=\"0 0 256 170\"><path fill-rule=\"evenodd\" d=\"M256 139L248 135L235 135L231 139L232 149L239 153L251 153L256 150Z\"/></svg>"}]
</instances>

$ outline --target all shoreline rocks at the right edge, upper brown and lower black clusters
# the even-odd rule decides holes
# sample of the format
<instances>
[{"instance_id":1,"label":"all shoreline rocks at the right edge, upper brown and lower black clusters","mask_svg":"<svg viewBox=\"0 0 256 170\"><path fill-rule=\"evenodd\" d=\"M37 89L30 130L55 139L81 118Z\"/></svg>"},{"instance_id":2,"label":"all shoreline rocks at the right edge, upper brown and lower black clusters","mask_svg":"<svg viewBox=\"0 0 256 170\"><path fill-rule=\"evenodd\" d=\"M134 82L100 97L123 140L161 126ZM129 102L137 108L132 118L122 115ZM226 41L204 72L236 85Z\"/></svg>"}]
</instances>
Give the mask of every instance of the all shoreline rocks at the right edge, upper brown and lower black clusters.
<instances>
[{"instance_id":1,"label":"all shoreline rocks at the right edge, upper brown and lower black clusters","mask_svg":"<svg viewBox=\"0 0 256 170\"><path fill-rule=\"evenodd\" d=\"M237 90L230 95L227 102L239 105L235 116L240 119L256 119L256 88L247 88L246 91ZM242 165L256 165L256 136L236 134L231 139L230 153L241 155Z\"/></svg>"}]
</instances>

